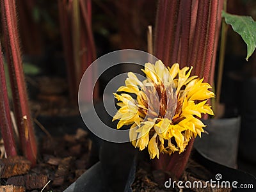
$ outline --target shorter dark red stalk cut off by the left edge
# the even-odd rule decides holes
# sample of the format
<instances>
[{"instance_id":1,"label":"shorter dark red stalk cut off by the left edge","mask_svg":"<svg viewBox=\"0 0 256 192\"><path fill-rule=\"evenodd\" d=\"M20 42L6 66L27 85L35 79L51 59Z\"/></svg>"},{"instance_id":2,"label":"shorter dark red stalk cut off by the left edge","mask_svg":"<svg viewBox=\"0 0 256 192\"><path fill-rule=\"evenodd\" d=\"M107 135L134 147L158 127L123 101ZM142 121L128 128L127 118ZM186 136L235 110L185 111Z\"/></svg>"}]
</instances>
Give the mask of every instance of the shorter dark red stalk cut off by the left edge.
<instances>
[{"instance_id":1,"label":"shorter dark red stalk cut off by the left edge","mask_svg":"<svg viewBox=\"0 0 256 192\"><path fill-rule=\"evenodd\" d=\"M2 51L2 47L0 44L0 50ZM8 100L8 93L6 87L6 80L4 74L4 62L3 62L3 54L0 54L0 126L1 126L1 134L4 140L4 148L7 157L17 156L16 145L13 135L12 129L12 120L10 116L10 106Z\"/></svg>"}]
</instances>

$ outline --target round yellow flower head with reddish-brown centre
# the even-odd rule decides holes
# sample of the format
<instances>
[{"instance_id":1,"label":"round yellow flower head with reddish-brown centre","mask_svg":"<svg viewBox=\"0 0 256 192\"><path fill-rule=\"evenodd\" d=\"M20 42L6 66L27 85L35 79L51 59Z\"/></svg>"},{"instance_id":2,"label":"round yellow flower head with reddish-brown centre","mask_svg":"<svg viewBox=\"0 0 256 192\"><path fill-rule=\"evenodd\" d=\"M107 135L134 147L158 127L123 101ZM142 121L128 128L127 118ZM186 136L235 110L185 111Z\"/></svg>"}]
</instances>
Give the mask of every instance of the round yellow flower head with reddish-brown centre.
<instances>
[{"instance_id":1,"label":"round yellow flower head with reddish-brown centre","mask_svg":"<svg viewBox=\"0 0 256 192\"><path fill-rule=\"evenodd\" d=\"M159 158L159 152L184 152L189 140L204 132L205 125L199 119L202 113L214 115L206 104L215 96L211 86L190 76L192 69L180 69L178 63L166 68L160 60L155 65L145 63L144 81L129 72L125 86L117 90L126 93L114 93L120 106L113 117L119 120L117 129L131 125L132 145L140 150L147 147L151 159Z\"/></svg>"}]
</instances>

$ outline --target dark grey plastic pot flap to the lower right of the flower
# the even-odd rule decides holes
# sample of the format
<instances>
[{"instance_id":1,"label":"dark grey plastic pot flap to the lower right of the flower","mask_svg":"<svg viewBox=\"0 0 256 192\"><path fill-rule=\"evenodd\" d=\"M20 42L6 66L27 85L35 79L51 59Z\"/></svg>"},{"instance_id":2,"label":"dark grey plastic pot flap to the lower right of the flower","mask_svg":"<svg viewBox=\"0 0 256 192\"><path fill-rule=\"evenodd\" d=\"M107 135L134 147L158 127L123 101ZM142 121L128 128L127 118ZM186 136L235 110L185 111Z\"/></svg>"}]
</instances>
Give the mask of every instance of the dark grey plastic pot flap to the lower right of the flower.
<instances>
[{"instance_id":1,"label":"dark grey plastic pot flap to the lower right of the flower","mask_svg":"<svg viewBox=\"0 0 256 192\"><path fill-rule=\"evenodd\" d=\"M205 120L202 138L195 139L194 147L216 163L237 168L240 118Z\"/></svg>"}]
</instances>

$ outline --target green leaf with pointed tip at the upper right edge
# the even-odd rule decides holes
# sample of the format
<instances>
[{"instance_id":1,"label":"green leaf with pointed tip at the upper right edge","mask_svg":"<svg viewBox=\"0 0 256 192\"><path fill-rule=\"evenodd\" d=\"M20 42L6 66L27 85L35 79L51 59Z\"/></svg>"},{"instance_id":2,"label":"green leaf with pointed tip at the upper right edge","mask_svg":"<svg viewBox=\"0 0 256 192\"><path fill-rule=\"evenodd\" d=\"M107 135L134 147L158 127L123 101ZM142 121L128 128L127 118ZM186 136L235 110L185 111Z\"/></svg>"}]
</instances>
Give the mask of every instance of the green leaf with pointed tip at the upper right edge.
<instances>
[{"instance_id":1,"label":"green leaf with pointed tip at the upper right edge","mask_svg":"<svg viewBox=\"0 0 256 192\"><path fill-rule=\"evenodd\" d=\"M225 22L230 24L236 33L242 36L247 45L246 60L253 54L256 47L256 22L249 16L232 15L222 11Z\"/></svg>"}]
</instances>

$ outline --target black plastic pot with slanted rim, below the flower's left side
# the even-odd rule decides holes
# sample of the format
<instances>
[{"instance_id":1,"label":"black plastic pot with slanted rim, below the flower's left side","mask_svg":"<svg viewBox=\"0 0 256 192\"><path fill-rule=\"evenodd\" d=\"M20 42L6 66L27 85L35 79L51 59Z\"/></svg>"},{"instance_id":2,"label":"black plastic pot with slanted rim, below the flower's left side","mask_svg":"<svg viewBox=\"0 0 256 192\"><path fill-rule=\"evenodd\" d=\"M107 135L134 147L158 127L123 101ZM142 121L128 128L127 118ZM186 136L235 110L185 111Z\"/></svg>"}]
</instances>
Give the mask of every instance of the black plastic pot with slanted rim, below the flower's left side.
<instances>
[{"instance_id":1,"label":"black plastic pot with slanted rim, below the flower's left side","mask_svg":"<svg viewBox=\"0 0 256 192\"><path fill-rule=\"evenodd\" d=\"M132 192L131 185L136 172L135 151L130 143L104 143L100 149L100 161L84 172L65 192Z\"/></svg>"}]
</instances>

